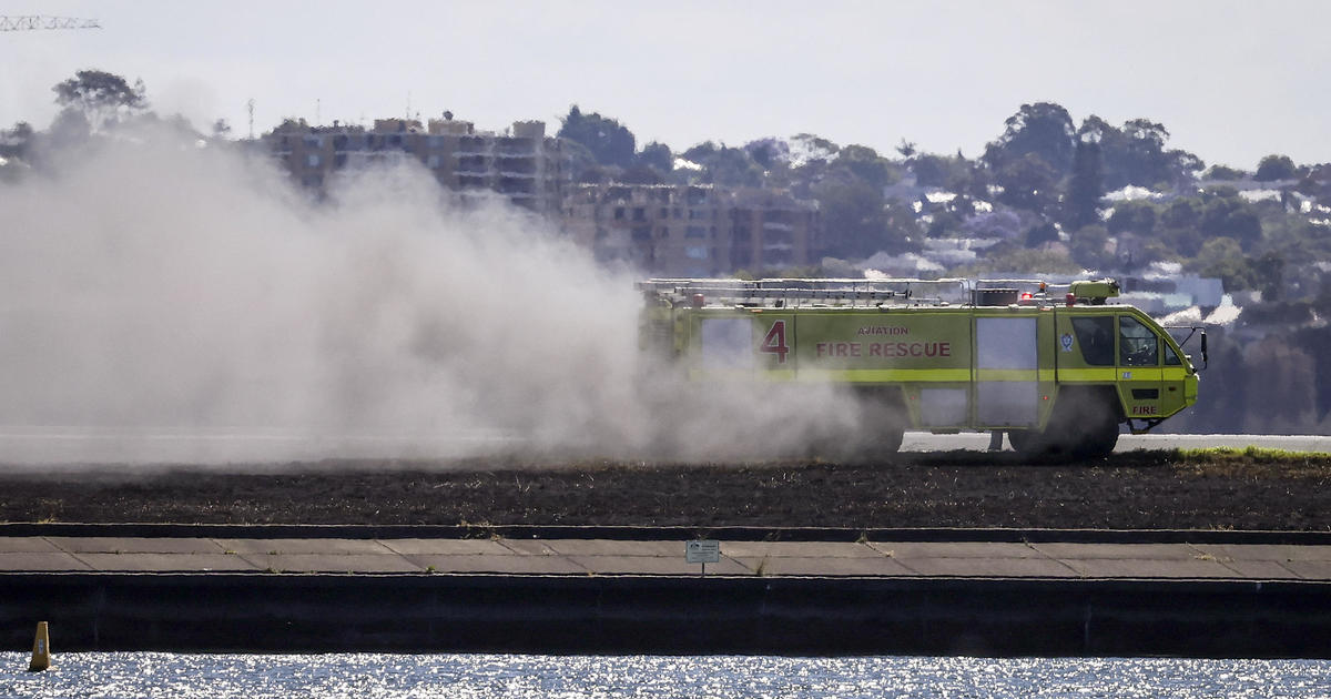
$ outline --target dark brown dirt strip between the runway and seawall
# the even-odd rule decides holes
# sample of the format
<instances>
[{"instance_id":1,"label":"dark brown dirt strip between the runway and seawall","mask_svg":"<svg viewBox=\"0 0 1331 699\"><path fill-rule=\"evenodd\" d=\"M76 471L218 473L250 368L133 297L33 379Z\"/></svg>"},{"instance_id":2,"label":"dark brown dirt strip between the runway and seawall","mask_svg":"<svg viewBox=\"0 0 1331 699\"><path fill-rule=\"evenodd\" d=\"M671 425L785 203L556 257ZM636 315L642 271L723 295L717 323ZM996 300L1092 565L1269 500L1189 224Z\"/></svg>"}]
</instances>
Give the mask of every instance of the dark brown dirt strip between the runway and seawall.
<instances>
[{"instance_id":1,"label":"dark brown dirt strip between the runway and seawall","mask_svg":"<svg viewBox=\"0 0 1331 699\"><path fill-rule=\"evenodd\" d=\"M1032 465L346 461L0 467L0 521L1331 530L1331 461L1115 454Z\"/></svg>"}]
</instances>

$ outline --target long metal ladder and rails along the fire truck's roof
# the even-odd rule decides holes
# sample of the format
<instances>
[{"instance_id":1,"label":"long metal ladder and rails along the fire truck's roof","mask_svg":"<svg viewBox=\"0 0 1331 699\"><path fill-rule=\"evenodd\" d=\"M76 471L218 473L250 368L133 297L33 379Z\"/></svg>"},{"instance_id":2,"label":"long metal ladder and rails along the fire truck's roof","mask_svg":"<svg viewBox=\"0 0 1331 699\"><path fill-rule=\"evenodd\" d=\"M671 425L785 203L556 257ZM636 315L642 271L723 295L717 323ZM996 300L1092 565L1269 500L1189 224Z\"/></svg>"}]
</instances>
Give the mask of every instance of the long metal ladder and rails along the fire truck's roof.
<instances>
[{"instance_id":1,"label":"long metal ladder and rails along the fire truck's roof","mask_svg":"<svg viewBox=\"0 0 1331 699\"><path fill-rule=\"evenodd\" d=\"M981 289L1040 289L1040 280L914 280L914 278L772 278L695 280L655 278L638 282L638 289L687 302L701 296L707 302L757 305L767 301L815 301L864 305L948 306L974 304ZM1053 285L1046 285L1053 286Z\"/></svg>"}]
</instances>

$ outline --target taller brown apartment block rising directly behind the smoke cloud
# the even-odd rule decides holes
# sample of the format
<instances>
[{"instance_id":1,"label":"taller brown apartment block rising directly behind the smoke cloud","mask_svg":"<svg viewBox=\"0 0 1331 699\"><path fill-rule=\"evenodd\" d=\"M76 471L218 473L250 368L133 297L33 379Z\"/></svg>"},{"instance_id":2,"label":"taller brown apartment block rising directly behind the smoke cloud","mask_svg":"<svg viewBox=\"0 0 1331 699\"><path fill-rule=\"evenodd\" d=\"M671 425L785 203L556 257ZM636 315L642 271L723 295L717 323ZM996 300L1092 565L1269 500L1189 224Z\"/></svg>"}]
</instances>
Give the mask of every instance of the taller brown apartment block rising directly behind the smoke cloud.
<instances>
[{"instance_id":1,"label":"taller brown apartment block rising directly behind the smoke cloud","mask_svg":"<svg viewBox=\"0 0 1331 699\"><path fill-rule=\"evenodd\" d=\"M445 186L463 194L495 192L514 204L556 214L567 174L560 140L546 136L543 121L515 121L508 133L478 132L451 115L419 120L379 118L363 126L307 126L287 121L262 137L269 153L311 189L343 168L391 165L413 158Z\"/></svg>"}]
</instances>

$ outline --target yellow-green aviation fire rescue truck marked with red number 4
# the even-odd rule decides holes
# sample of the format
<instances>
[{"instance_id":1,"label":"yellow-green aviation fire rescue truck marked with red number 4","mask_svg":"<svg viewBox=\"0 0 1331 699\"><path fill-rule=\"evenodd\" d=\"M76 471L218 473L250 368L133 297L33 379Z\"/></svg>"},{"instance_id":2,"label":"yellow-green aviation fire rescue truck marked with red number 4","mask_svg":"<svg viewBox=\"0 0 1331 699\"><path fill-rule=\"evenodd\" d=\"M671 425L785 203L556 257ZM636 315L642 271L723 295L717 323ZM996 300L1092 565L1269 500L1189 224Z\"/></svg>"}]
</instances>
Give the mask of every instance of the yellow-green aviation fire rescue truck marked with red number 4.
<instances>
[{"instance_id":1,"label":"yellow-green aviation fire rescue truck marked with red number 4","mask_svg":"<svg viewBox=\"0 0 1331 699\"><path fill-rule=\"evenodd\" d=\"M906 429L1006 431L1030 454L1107 454L1197 402L1181 342L1107 304L1111 280L650 280L639 344L691 381L833 382ZM1182 340L1206 330L1189 326Z\"/></svg>"}]
</instances>

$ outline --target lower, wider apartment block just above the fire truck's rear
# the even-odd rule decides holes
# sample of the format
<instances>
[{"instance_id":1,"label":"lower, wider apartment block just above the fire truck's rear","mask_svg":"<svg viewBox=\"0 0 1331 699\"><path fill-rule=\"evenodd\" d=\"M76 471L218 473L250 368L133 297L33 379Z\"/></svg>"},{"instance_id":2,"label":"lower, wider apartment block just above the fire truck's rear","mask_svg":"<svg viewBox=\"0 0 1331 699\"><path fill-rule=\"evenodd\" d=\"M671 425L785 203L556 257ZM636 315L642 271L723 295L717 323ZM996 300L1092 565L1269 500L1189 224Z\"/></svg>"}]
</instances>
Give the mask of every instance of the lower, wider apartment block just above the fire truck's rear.
<instances>
[{"instance_id":1,"label":"lower, wider apartment block just above the fire truck's rear","mask_svg":"<svg viewBox=\"0 0 1331 699\"><path fill-rule=\"evenodd\" d=\"M564 230L602 261L668 277L761 273L817 261L817 202L712 185L575 185Z\"/></svg>"}]
</instances>

